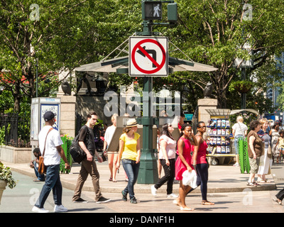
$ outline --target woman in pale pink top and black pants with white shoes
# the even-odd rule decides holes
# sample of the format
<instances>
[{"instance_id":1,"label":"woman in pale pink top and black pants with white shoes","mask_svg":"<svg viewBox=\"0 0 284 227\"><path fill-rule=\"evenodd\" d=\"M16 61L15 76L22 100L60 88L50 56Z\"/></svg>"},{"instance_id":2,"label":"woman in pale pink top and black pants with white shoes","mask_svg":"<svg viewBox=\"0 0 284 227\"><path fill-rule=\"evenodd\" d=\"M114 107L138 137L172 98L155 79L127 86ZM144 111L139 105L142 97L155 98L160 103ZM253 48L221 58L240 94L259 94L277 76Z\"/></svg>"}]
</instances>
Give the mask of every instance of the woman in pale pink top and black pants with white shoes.
<instances>
[{"instance_id":1,"label":"woman in pale pink top and black pants with white shoes","mask_svg":"<svg viewBox=\"0 0 284 227\"><path fill-rule=\"evenodd\" d=\"M158 182L151 187L151 192L153 196L156 195L157 190L162 187L165 182L167 182L167 197L177 198L173 194L173 180L175 179L175 148L177 142L173 138L174 128L172 124L165 123L160 134L160 152L159 160L160 164L163 166L165 175L158 180Z\"/></svg>"}]
</instances>

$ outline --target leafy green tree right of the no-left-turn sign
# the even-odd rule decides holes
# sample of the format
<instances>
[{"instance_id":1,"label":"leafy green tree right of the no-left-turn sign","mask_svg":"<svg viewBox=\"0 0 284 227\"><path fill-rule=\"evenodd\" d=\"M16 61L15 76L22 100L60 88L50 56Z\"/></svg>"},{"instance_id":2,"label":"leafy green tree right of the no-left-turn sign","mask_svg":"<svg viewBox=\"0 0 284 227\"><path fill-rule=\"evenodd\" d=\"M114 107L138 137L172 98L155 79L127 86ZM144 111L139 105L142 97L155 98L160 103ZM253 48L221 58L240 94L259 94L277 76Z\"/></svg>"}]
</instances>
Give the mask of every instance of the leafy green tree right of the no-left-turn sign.
<instances>
[{"instance_id":1,"label":"leafy green tree right of the no-left-turn sign","mask_svg":"<svg viewBox=\"0 0 284 227\"><path fill-rule=\"evenodd\" d=\"M253 52L253 68L246 70L246 79L255 77L258 80L261 79L258 77L259 70L257 74L254 72L261 67L271 69L274 55L283 51L282 1L253 1L245 8L244 4L249 1L196 0L178 3L180 23L173 32L169 29L166 34L192 60L214 65L219 70L208 73L187 72L182 76L176 74L175 77L195 84L190 85L195 90L202 89L207 81L211 81L218 107L228 108L231 106L231 101L228 103L231 99L229 84L242 79L240 64L234 66L234 59L248 60L251 57L249 53ZM252 20L245 21L246 13L250 12L249 6L252 6ZM242 50L245 44L250 45L249 51ZM267 77L266 74L266 82L258 89L263 88L265 91L266 84L272 84L275 74L271 75ZM235 96L233 100L233 103L236 102Z\"/></svg>"}]
</instances>

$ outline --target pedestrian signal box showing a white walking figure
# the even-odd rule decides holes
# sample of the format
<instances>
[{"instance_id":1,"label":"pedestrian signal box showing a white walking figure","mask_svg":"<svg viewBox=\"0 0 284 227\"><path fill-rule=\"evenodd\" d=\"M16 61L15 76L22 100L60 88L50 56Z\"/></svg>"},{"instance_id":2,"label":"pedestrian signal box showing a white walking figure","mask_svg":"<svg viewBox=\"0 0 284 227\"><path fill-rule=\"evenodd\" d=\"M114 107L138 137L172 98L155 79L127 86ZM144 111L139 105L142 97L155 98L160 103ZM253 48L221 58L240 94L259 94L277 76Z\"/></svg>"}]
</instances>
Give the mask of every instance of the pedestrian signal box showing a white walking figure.
<instances>
[{"instance_id":1,"label":"pedestrian signal box showing a white walking figure","mask_svg":"<svg viewBox=\"0 0 284 227\"><path fill-rule=\"evenodd\" d=\"M142 1L143 20L162 19L162 1Z\"/></svg>"}]
</instances>

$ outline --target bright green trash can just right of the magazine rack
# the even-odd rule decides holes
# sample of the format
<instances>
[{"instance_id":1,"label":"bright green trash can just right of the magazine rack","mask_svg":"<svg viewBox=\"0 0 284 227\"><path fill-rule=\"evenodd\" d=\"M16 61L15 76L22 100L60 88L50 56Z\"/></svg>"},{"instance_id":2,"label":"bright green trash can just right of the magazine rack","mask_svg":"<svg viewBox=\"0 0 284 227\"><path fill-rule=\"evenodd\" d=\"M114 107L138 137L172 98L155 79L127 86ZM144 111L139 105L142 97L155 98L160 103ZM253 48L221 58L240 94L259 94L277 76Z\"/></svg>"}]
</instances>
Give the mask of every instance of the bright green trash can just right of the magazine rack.
<instances>
[{"instance_id":1,"label":"bright green trash can just right of the magazine rack","mask_svg":"<svg viewBox=\"0 0 284 227\"><path fill-rule=\"evenodd\" d=\"M248 141L246 140L246 138L239 138L238 145L241 173L249 173L249 170L251 170L251 166L249 165Z\"/></svg>"}]
</instances>

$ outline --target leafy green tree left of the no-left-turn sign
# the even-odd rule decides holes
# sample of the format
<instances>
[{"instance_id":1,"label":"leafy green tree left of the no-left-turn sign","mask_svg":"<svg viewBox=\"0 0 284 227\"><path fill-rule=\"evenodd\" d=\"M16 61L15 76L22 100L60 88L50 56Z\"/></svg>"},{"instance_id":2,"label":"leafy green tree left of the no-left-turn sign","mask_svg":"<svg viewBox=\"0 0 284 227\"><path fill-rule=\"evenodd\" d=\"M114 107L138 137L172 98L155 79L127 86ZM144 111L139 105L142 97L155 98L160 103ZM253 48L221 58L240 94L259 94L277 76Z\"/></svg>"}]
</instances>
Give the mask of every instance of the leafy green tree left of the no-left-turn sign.
<instances>
[{"instance_id":1,"label":"leafy green tree left of the no-left-turn sign","mask_svg":"<svg viewBox=\"0 0 284 227\"><path fill-rule=\"evenodd\" d=\"M36 60L38 96L48 96L61 71L99 60L133 33L138 4L121 2L0 1L0 84L13 93L15 111L23 96L35 97Z\"/></svg>"}]
</instances>

